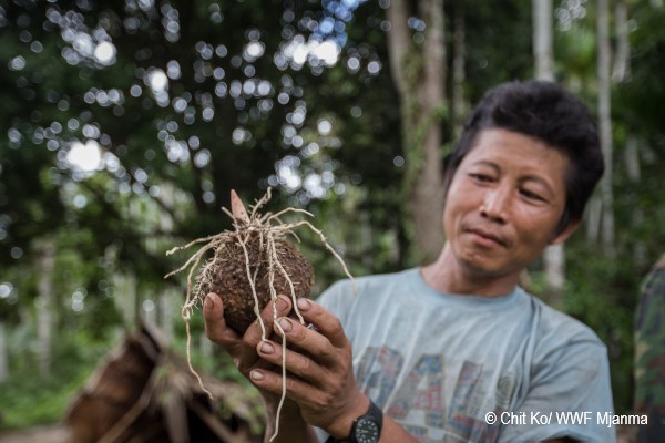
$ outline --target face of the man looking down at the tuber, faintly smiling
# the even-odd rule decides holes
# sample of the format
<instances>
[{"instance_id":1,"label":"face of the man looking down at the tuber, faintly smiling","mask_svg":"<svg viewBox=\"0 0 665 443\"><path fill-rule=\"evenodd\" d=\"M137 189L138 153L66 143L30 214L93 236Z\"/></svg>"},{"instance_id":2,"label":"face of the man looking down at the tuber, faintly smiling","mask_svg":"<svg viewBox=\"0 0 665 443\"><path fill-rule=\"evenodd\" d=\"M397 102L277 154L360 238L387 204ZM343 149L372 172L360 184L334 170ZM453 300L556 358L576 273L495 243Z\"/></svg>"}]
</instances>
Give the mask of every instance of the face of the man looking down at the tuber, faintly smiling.
<instances>
[{"instance_id":1,"label":"face of the man looking down at the tuber, faintly smiling","mask_svg":"<svg viewBox=\"0 0 665 443\"><path fill-rule=\"evenodd\" d=\"M567 157L521 133L490 128L458 167L443 226L456 259L478 277L519 275L554 237L565 206Z\"/></svg>"}]
</instances>

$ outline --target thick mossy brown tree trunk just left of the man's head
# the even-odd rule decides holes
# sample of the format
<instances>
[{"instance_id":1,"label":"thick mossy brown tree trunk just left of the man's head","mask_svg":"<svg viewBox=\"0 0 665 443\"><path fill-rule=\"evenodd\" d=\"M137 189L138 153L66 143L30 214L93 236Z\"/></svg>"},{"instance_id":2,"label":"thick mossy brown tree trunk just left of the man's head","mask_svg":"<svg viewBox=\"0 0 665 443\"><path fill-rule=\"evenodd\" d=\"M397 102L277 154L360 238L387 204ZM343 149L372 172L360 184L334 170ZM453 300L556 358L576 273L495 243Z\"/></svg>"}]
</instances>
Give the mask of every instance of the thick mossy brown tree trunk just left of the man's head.
<instances>
[{"instance_id":1,"label":"thick mossy brown tree trunk just left of the man's head","mask_svg":"<svg viewBox=\"0 0 665 443\"><path fill-rule=\"evenodd\" d=\"M407 158L406 196L411 210L418 261L437 257L443 245L443 176L440 114L444 105L446 47L443 0L419 0L424 41L413 43L405 0L388 8L390 69L400 96L402 143Z\"/></svg>"}]
</instances>

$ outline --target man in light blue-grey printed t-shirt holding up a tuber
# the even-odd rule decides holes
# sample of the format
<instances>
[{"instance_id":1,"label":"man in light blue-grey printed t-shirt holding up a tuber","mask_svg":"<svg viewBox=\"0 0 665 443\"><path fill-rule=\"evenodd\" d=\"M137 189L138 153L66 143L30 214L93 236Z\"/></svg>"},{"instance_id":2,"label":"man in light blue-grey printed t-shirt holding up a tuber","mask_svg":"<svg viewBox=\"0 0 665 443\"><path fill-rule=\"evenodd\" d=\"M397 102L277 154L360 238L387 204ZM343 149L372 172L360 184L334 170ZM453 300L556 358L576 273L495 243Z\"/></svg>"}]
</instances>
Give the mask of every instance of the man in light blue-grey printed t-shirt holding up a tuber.
<instances>
[{"instance_id":1,"label":"man in light blue-grey printed t-shirt holding up a tuber","mask_svg":"<svg viewBox=\"0 0 665 443\"><path fill-rule=\"evenodd\" d=\"M546 246L575 230L602 173L595 125L563 89L514 82L488 92L447 164L439 258L359 278L357 293L344 281L318 302L298 301L310 327L278 320L289 349L275 441L614 441L596 424L597 412L613 412L605 347L518 286ZM290 302L276 308L287 316ZM257 326L237 337L222 313L209 295L207 336L264 394L270 424L280 339L262 341ZM263 317L273 327L272 307ZM589 415L564 419L575 412Z\"/></svg>"}]
</instances>

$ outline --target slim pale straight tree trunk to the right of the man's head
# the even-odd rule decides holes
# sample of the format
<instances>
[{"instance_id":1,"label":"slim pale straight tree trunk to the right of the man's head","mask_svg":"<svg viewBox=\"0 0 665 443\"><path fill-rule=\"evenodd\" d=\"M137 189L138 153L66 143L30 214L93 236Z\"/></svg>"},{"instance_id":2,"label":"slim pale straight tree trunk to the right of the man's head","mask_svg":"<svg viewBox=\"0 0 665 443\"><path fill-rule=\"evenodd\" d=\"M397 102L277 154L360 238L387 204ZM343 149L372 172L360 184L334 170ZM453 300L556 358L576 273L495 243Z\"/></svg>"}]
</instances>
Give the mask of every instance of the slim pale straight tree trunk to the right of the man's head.
<instances>
[{"instance_id":1,"label":"slim pale straight tree trunk to the right of the man's head","mask_svg":"<svg viewBox=\"0 0 665 443\"><path fill-rule=\"evenodd\" d=\"M601 147L605 157L605 174L601 179L602 244L607 257L614 257L614 195L613 177L613 141L612 141L612 104L611 104L611 49L610 49L610 4L608 0L597 2L597 75L598 75L598 128Z\"/></svg>"}]
</instances>

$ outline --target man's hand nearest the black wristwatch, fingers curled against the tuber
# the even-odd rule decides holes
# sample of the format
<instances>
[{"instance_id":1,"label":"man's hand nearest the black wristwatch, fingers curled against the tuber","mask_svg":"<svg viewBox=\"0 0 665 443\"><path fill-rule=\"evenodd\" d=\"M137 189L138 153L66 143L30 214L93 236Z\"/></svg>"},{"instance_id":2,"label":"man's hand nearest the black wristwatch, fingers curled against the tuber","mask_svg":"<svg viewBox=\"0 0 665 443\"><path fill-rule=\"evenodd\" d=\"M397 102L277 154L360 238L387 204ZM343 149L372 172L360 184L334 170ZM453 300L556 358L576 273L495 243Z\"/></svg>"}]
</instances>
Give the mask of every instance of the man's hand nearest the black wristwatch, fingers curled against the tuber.
<instances>
[{"instance_id":1,"label":"man's hand nearest the black wristwatch, fingers curled against the tuber","mask_svg":"<svg viewBox=\"0 0 665 443\"><path fill-rule=\"evenodd\" d=\"M294 400L303 419L327 431L337 439L347 437L355 419L367 412L369 399L356 384L352 370L351 344L341 323L320 305L298 300L298 309L307 328L295 319L279 318L273 330L284 330L289 348L286 350L287 396ZM282 339L256 341L256 352L273 369L254 365L249 377L256 387L280 394L283 379ZM274 368L279 367L278 370Z\"/></svg>"}]
</instances>

